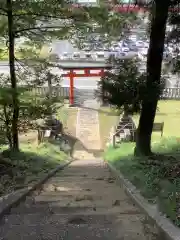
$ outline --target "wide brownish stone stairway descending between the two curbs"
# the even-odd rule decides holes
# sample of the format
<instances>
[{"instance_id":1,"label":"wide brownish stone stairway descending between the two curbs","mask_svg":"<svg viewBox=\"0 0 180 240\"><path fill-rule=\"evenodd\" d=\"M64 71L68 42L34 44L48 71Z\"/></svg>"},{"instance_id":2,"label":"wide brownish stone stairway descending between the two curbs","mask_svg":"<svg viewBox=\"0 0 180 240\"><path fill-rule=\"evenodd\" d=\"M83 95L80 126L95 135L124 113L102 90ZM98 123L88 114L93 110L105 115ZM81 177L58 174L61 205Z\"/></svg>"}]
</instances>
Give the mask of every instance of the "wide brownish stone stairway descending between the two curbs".
<instances>
[{"instance_id":1,"label":"wide brownish stone stairway descending between the two curbs","mask_svg":"<svg viewBox=\"0 0 180 240\"><path fill-rule=\"evenodd\" d=\"M4 240L155 240L153 228L100 159L79 160L12 209Z\"/></svg>"}]
</instances>

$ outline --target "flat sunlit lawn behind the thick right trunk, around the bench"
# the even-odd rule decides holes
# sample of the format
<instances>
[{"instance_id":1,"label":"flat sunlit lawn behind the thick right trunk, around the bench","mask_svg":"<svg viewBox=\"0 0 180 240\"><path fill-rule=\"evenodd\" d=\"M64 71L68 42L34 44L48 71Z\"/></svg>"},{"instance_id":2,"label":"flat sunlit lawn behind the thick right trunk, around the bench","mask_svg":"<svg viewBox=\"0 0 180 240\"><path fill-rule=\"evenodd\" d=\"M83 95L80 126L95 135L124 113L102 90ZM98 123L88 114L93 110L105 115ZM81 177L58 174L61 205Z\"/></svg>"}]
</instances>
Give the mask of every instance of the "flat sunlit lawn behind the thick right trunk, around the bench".
<instances>
[{"instance_id":1,"label":"flat sunlit lawn behind the thick right trunk, around the bench","mask_svg":"<svg viewBox=\"0 0 180 240\"><path fill-rule=\"evenodd\" d=\"M139 115L135 115L133 118L138 125ZM155 122L164 122L164 137L180 137L180 101L159 101ZM160 133L154 132L152 134L152 141L159 140Z\"/></svg>"}]
</instances>

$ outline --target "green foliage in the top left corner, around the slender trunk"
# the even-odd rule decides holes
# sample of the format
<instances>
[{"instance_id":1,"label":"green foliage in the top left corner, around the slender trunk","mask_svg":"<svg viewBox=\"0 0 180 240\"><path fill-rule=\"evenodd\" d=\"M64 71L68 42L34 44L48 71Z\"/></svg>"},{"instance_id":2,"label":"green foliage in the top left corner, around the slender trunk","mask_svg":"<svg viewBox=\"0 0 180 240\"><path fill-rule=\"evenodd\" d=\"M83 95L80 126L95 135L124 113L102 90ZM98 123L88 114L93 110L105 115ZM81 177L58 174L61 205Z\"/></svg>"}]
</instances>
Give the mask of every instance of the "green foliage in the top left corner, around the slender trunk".
<instances>
[{"instance_id":1,"label":"green foliage in the top left corner, around the slender trunk","mask_svg":"<svg viewBox=\"0 0 180 240\"><path fill-rule=\"evenodd\" d=\"M46 0L42 4L41 1L34 0L11 1L13 34L16 38L16 58L19 57L19 52L21 57L24 58L37 57L39 55L37 49L41 49L45 43L49 43L53 38L64 39L70 37L80 23L81 26L82 23L88 21L89 14L87 11L83 8L73 9L69 7L68 1L65 1L64 4L63 2ZM8 14L6 1L1 1L0 33L5 43L2 46L3 51L9 45ZM25 42L19 47L18 40L22 38Z\"/></svg>"}]
</instances>

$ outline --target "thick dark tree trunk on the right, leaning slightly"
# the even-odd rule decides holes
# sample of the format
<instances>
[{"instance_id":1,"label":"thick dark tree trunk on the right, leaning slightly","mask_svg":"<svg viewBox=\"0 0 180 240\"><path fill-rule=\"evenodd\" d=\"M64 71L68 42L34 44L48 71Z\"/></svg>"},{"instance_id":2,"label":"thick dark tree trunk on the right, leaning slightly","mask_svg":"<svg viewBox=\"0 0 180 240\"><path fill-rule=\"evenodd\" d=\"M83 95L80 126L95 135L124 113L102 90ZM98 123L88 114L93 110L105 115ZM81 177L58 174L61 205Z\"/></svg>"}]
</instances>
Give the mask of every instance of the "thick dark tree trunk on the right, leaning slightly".
<instances>
[{"instance_id":1,"label":"thick dark tree trunk on the right, leaning slightly","mask_svg":"<svg viewBox=\"0 0 180 240\"><path fill-rule=\"evenodd\" d=\"M151 155L151 134L160 95L161 67L164 51L165 29L170 1L155 1L151 23L150 45L147 57L146 96L137 129L135 155Z\"/></svg>"}]
</instances>

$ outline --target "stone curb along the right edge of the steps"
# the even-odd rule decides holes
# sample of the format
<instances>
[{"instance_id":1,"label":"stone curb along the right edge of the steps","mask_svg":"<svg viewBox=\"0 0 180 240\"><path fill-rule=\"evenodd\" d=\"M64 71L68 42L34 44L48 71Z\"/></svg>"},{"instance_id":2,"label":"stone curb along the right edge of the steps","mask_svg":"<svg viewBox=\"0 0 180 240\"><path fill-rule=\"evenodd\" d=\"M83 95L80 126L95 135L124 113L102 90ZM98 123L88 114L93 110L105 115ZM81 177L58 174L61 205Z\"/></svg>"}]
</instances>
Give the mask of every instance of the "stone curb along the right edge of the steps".
<instances>
[{"instance_id":1,"label":"stone curb along the right edge of the steps","mask_svg":"<svg viewBox=\"0 0 180 240\"><path fill-rule=\"evenodd\" d=\"M173 223L157 209L156 205L149 204L137 188L127 180L122 173L117 171L116 168L107 161L105 161L105 163L134 203L158 226L160 232L163 233L162 239L180 240L180 229L173 225Z\"/></svg>"}]
</instances>

